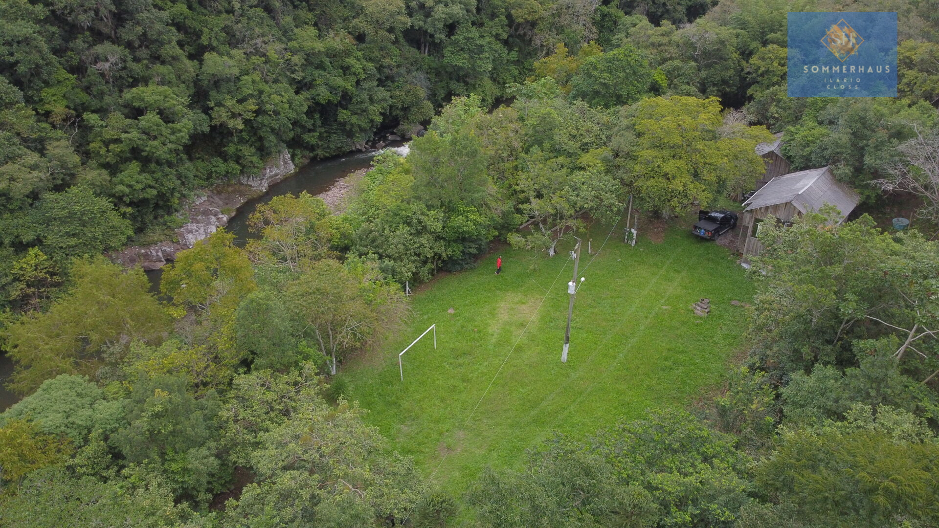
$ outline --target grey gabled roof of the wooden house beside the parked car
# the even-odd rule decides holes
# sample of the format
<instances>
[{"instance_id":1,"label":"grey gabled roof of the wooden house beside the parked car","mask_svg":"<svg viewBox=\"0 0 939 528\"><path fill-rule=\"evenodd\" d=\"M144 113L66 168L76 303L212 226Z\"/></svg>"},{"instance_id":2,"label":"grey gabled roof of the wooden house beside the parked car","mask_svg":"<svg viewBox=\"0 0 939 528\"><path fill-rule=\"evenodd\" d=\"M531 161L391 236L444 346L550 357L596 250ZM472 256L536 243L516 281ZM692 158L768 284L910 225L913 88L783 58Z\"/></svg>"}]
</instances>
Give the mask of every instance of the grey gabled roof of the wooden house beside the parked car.
<instances>
[{"instance_id":1,"label":"grey gabled roof of the wooden house beside the parked car","mask_svg":"<svg viewBox=\"0 0 939 528\"><path fill-rule=\"evenodd\" d=\"M835 179L828 167L822 167L771 179L744 205L747 210L755 210L792 203L795 209L805 214L831 204L841 211L842 216L848 216L860 201L861 197L854 189Z\"/></svg>"}]
</instances>

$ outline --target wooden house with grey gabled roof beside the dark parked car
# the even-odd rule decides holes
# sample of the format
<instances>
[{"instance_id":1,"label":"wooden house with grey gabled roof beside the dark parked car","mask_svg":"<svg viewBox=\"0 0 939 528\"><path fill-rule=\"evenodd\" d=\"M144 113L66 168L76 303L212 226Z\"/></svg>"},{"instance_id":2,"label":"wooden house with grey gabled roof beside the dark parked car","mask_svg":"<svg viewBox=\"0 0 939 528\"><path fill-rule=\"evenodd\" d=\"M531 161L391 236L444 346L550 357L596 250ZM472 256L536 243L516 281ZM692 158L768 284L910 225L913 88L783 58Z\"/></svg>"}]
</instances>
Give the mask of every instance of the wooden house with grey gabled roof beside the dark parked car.
<instances>
[{"instance_id":1,"label":"wooden house with grey gabled roof beside the dark parked car","mask_svg":"<svg viewBox=\"0 0 939 528\"><path fill-rule=\"evenodd\" d=\"M828 167L793 172L771 179L744 202L747 208L740 218L740 241L737 250L744 256L759 255L762 243L757 240L760 225L767 216L783 224L809 211L831 204L841 211L842 220L857 207L861 197L850 186L835 179Z\"/></svg>"}]
</instances>

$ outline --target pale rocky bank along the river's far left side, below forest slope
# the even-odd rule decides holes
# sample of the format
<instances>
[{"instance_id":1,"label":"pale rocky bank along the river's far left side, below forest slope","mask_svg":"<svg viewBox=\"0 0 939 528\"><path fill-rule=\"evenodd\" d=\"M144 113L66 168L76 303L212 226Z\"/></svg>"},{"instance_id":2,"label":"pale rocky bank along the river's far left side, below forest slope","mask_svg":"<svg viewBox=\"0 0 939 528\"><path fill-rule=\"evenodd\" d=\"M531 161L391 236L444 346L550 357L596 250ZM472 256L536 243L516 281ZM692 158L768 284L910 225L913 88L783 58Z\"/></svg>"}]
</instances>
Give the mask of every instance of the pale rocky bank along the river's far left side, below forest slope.
<instances>
[{"instance_id":1,"label":"pale rocky bank along the river's far left side, below forest slope","mask_svg":"<svg viewBox=\"0 0 939 528\"><path fill-rule=\"evenodd\" d=\"M144 270L158 270L167 261L175 259L180 251L191 248L196 241L228 225L231 215L242 204L266 193L271 185L285 179L296 169L290 153L284 150L271 159L259 174L244 175L234 183L209 189L192 200L185 208L189 222L176 230L175 241L130 246L108 256L125 266L140 265Z\"/></svg>"}]
</instances>

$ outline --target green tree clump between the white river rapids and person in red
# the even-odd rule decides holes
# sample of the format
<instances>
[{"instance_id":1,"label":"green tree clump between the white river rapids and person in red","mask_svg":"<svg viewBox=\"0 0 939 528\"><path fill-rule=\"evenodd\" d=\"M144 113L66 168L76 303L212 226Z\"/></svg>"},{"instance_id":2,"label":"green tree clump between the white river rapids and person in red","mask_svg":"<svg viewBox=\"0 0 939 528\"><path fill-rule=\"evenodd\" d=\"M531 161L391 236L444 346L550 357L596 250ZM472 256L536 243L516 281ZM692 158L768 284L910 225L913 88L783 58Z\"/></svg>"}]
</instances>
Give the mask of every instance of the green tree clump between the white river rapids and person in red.
<instances>
[{"instance_id":1,"label":"green tree clump between the white river rapids and person in red","mask_svg":"<svg viewBox=\"0 0 939 528\"><path fill-rule=\"evenodd\" d=\"M500 216L511 214L488 174L500 165L491 157L504 148L498 140L511 138L511 129L498 138L489 133L499 126L479 97L455 98L412 142L408 158L383 156L365 176L343 218L349 238L341 245L376 258L402 284L473 266Z\"/></svg>"}]
</instances>

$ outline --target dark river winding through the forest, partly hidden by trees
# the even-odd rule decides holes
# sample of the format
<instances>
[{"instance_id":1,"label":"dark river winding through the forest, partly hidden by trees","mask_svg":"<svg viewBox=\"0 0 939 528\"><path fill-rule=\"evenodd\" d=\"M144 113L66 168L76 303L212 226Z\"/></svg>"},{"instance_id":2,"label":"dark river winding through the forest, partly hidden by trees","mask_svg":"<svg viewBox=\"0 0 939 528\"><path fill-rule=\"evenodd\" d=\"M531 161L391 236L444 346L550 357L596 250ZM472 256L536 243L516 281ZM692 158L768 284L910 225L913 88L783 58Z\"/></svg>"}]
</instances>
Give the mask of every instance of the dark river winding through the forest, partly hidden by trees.
<instances>
[{"instance_id":1,"label":"dark river winding through the forest, partly hidden by trees","mask_svg":"<svg viewBox=\"0 0 939 528\"><path fill-rule=\"evenodd\" d=\"M387 148L399 154L407 155L408 146L403 142L395 141ZM319 160L303 165L297 173L280 183L271 185L268 192L249 200L239 207L231 220L228 221L227 229L235 234L236 244L244 245L249 239L257 235L248 230L248 216L257 209L259 204L266 204L270 198L279 194L300 194L306 191L309 194L321 194L326 192L333 183L339 179L348 176L349 173L368 168L372 165L372 159L384 150L367 150L365 152L350 152L344 156L337 156L326 160ZM160 292L160 279L163 271L153 270L146 272L150 279L150 291ZM13 373L13 362L6 355L0 355L0 412L7 409L19 401L19 397L10 393L4 383Z\"/></svg>"}]
</instances>

